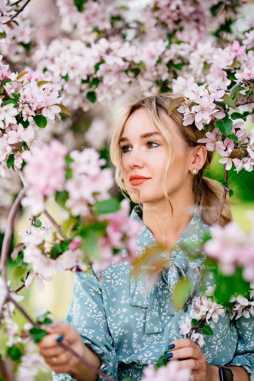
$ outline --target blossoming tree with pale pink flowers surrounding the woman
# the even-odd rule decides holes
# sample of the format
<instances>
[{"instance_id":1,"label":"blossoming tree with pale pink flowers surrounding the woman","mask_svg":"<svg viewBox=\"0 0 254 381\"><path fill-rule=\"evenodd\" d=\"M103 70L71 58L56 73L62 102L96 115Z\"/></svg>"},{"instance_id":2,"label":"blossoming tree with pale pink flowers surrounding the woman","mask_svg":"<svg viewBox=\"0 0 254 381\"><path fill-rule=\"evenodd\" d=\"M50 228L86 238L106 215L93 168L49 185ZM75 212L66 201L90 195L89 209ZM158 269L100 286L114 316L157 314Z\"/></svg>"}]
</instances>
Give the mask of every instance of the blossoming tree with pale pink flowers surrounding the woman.
<instances>
[{"instance_id":1,"label":"blossoming tree with pale pink flowers surrounding the woman","mask_svg":"<svg viewBox=\"0 0 254 381\"><path fill-rule=\"evenodd\" d=\"M38 368L45 369L34 343L46 335L43 328L51 319L48 312L31 319L18 303L22 288L35 281L43 290L57 269L73 271L76 265L76 271L89 271L92 264L102 269L117 263L123 260L124 245L128 253L124 259L135 265L140 226L129 220L128 200L111 197L113 175L107 161L89 149L99 132L105 136L98 143L103 153L107 126L100 118L92 121L87 116L97 104L111 107L124 99L133 82L145 95L182 94L171 102L169 115L175 109L183 114L184 125L194 125L198 142L216 150L224 165L217 226L203 239L206 263L216 265L219 281L215 288L195 296L197 284L184 301L187 311L195 297L190 314L179 322L181 335L204 345L204 335L212 335L209 322L219 320L224 304L231 309L232 319L254 315L253 216L248 234L235 223L220 226L225 199L233 196L228 170L235 166L237 173L251 172L254 165L254 128L241 128L254 110L254 20L237 37L232 28L243 3L152 1L133 11L111 0L57 0L56 5L51 0L36 5L32 0L0 2L0 176L5 179L12 171L19 189L14 202L7 204L0 263L0 323L9 336L6 356L0 360L3 379L33 379ZM35 18L38 9L44 14L51 8L49 19ZM60 28L51 24L52 15ZM82 135L86 145L80 150L69 146L71 139L64 141L63 135L69 137L82 118L89 128ZM253 115L250 118L253 123ZM60 123L59 133L55 126ZM76 132L75 136L81 133ZM46 210L49 197L68 212L64 226ZM22 243L11 253L21 280L11 290L6 264L20 204L31 211L30 226L19 231ZM53 227L49 246L46 237L51 237ZM232 281L234 288L224 292L222 283ZM28 320L21 334L13 322L14 309ZM187 371L167 363L165 356L159 358L157 370L145 369L145 379L166 379L168 367L172 379L189 378Z\"/></svg>"}]
</instances>

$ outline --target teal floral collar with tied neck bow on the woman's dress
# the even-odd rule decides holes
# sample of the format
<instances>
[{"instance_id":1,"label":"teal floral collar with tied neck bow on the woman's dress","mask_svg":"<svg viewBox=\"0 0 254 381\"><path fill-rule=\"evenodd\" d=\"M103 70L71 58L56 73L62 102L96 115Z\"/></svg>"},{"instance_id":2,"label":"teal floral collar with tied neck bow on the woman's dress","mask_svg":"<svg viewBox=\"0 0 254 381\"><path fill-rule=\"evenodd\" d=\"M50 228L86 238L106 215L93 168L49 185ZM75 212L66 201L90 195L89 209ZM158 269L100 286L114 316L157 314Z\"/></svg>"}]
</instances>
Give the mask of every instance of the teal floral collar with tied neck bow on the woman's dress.
<instances>
[{"instance_id":1,"label":"teal floral collar with tied neck bow on the woman's dress","mask_svg":"<svg viewBox=\"0 0 254 381\"><path fill-rule=\"evenodd\" d=\"M157 245L157 241L152 232L142 221L142 209L139 205L136 205L131 212L131 219L137 220L141 224L141 230L137 236L137 255L142 255L145 248L153 247ZM182 243L190 244L198 243L201 241L201 235L204 231L209 230L210 227L203 223L197 208L190 222L185 227L181 236L173 246L171 252L170 266L163 267L163 269L157 274L156 280L149 285L147 273L142 272L139 277L131 275L130 284L130 304L138 307L147 308L145 319L145 333L157 333L163 331L161 313L163 311L168 314L175 315L177 309L174 306L173 301L173 288L176 283L182 278L186 278L189 267L199 266L204 258L205 252L202 250L200 255L196 258L189 258L187 253L182 248ZM198 253L198 250L194 250ZM161 253L160 256L168 258L168 254ZM193 289L195 288L195 279L190 279L193 282Z\"/></svg>"}]
</instances>

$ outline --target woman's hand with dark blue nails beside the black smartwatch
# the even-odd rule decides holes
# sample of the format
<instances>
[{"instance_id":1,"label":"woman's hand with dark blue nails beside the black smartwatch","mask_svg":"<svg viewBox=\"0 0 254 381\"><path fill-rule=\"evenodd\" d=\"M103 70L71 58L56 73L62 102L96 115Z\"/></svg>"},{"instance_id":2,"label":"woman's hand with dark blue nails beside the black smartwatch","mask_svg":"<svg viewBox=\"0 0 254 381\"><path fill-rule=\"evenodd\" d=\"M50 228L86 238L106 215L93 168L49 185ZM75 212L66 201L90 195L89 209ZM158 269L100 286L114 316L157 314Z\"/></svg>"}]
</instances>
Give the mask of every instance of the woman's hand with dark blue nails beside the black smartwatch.
<instances>
[{"instance_id":1,"label":"woman's hand with dark blue nails beside the black smartwatch","mask_svg":"<svg viewBox=\"0 0 254 381\"><path fill-rule=\"evenodd\" d=\"M191 339L179 339L172 341L170 344L174 344L174 348L169 350L169 353L173 355L170 360L184 359L179 361L178 367L179 369L190 369L194 381L214 381L217 378L212 375L212 368L216 367L208 365L206 356L194 341ZM215 370L218 370L218 368Z\"/></svg>"}]
</instances>

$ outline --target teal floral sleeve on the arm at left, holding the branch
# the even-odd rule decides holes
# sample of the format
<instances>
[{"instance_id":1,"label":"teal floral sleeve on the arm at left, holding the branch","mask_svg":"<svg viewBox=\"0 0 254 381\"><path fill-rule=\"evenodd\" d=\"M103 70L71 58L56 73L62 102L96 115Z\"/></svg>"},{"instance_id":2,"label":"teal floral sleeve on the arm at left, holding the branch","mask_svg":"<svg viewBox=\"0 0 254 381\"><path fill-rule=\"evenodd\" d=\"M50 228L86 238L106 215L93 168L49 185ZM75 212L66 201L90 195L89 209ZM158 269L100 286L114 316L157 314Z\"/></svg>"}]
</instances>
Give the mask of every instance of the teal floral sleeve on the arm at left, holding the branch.
<instances>
[{"instance_id":1,"label":"teal floral sleeve on the arm at left, holding the branch","mask_svg":"<svg viewBox=\"0 0 254 381\"><path fill-rule=\"evenodd\" d=\"M100 370L116 380L117 355L112 347L113 339L105 315L101 283L93 269L89 272L74 272L73 299L64 322L75 327L83 343L98 355L102 364ZM75 381L68 373L54 371L52 379ZM98 376L98 380L102 381L105 378Z\"/></svg>"}]
</instances>

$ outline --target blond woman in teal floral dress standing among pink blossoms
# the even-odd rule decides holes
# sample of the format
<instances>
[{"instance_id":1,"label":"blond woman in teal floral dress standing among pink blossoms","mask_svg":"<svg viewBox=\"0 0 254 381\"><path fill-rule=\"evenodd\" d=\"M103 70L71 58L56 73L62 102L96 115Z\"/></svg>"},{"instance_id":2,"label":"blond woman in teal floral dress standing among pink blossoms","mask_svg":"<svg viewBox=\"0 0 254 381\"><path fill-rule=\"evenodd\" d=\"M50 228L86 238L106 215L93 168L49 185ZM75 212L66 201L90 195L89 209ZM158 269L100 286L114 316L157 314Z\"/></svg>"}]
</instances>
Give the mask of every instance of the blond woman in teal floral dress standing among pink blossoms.
<instances>
[{"instance_id":1,"label":"blond woman in teal floral dress standing among pink blossoms","mask_svg":"<svg viewBox=\"0 0 254 381\"><path fill-rule=\"evenodd\" d=\"M147 273L134 278L128 261L102 271L102 281L95 268L75 272L65 323L48 328L50 334L39 344L54 381L103 379L59 347L59 335L88 362L118 380L140 380L143 368L155 364L169 349L169 361L181 359L179 365L191 369L194 380L219 380L216 365L230 365L234 381L254 380L252 317L233 323L225 309L217 323L211 322L214 335L206 336L201 348L180 335L179 322L184 322L193 301L186 312L177 311L172 288L185 275L195 288L205 253L187 258L179 244L198 243L202 232L215 223L222 186L203 176L213 152L196 142L195 127L183 126L177 110L168 116L175 96L154 95L125 106L114 122L110 146L118 186L139 203L131 212L131 219L142 225L138 255L163 243L168 249L161 256L170 255L170 265L158 272L150 288ZM226 203L220 223L231 219ZM126 255L125 249L122 254ZM205 272L203 282L214 286L213 275Z\"/></svg>"}]
</instances>

